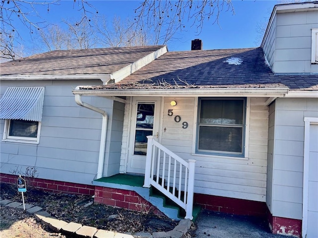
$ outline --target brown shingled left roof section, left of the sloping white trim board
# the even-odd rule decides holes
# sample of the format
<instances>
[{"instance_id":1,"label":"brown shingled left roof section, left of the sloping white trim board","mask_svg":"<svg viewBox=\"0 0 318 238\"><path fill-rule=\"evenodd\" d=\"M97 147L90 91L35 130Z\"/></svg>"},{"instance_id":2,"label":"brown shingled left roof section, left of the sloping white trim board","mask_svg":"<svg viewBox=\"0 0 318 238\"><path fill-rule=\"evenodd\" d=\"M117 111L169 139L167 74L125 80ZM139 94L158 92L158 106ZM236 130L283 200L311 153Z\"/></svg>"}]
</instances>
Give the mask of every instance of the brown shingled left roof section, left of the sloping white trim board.
<instances>
[{"instance_id":1,"label":"brown shingled left roof section, left of the sloping white trim board","mask_svg":"<svg viewBox=\"0 0 318 238\"><path fill-rule=\"evenodd\" d=\"M1 75L108 74L163 46L51 51L0 64Z\"/></svg>"}]
</instances>

